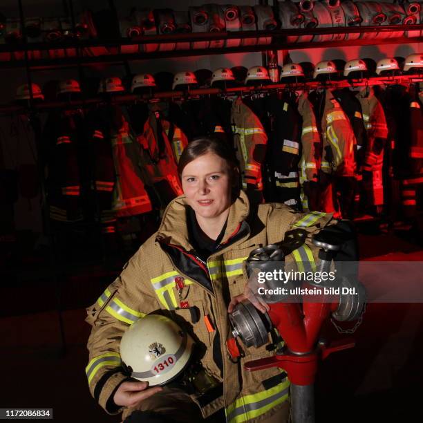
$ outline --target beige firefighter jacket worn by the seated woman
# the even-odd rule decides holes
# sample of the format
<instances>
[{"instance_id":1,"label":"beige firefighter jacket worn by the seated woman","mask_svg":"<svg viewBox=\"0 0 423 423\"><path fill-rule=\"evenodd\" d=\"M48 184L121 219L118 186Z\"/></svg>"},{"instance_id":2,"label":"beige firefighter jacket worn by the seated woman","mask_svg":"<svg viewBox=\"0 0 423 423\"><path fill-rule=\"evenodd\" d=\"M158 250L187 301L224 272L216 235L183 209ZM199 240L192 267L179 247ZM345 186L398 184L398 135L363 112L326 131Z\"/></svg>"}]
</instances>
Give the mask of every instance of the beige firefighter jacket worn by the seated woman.
<instances>
[{"instance_id":1,"label":"beige firefighter jacket worn by the seated woman","mask_svg":"<svg viewBox=\"0 0 423 423\"><path fill-rule=\"evenodd\" d=\"M285 372L278 368L256 372L244 369L245 361L272 355L265 346L244 348L245 357L238 363L229 359L225 343L232 336L232 330L227 306L244 290L247 280L244 261L252 250L282 241L288 230L300 229L308 234L306 243L285 261L294 264L313 261L313 258L317 260L317 249L310 237L324 227L331 216L319 212L297 214L278 203L259 205L250 211L247 197L241 192L231 206L220 249L207 259L206 265L202 265L191 255L193 248L187 234L185 207L184 196L169 204L158 232L140 247L118 279L88 308L86 321L93 326L86 367L91 394L108 413L117 412L108 401L115 388L127 378L122 373L120 337L144 314L162 310L189 328L196 342L203 347L203 367L223 382L223 391L214 398L206 401L191 396L203 416L225 407L227 422L261 422L288 399L290 382ZM175 285L178 276L185 279L182 296L200 311L196 323L191 322L189 310L179 308ZM200 283L205 279L211 281L213 290ZM207 330L206 316L216 330ZM219 341L223 357L223 375L214 359L214 337L219 337L216 341ZM124 417L130 413L131 409L125 409Z\"/></svg>"}]
</instances>

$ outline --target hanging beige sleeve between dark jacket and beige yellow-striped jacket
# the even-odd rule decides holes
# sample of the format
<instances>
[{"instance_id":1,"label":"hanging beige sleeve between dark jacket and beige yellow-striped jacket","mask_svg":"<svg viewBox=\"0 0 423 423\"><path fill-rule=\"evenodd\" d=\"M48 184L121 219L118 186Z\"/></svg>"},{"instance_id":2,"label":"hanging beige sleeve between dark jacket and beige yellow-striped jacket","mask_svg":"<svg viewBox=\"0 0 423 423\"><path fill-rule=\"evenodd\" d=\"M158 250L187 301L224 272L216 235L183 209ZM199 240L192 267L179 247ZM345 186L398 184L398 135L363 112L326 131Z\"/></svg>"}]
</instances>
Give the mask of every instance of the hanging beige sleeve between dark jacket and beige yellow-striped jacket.
<instances>
[{"instance_id":1,"label":"hanging beige sleeve between dark jacket and beige yellow-striped jacket","mask_svg":"<svg viewBox=\"0 0 423 423\"><path fill-rule=\"evenodd\" d=\"M306 94L299 97L298 111L303 118L301 174L307 180L317 182L317 169L320 167L321 160L321 140L314 110Z\"/></svg>"}]
</instances>

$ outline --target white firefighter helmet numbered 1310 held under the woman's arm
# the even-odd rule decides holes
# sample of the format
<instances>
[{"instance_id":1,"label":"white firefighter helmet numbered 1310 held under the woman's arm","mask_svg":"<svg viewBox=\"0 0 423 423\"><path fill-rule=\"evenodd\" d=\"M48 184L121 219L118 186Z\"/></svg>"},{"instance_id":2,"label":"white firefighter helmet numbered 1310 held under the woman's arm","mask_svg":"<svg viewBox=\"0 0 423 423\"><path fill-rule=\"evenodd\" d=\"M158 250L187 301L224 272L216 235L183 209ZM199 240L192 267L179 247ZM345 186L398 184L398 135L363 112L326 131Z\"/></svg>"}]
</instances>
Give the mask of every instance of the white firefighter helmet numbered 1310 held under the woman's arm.
<instances>
[{"instance_id":1,"label":"white firefighter helmet numbered 1310 held under the woman's arm","mask_svg":"<svg viewBox=\"0 0 423 423\"><path fill-rule=\"evenodd\" d=\"M120 357L131 377L158 386L185 370L193 347L193 339L173 320L147 314L124 332Z\"/></svg>"}]
</instances>

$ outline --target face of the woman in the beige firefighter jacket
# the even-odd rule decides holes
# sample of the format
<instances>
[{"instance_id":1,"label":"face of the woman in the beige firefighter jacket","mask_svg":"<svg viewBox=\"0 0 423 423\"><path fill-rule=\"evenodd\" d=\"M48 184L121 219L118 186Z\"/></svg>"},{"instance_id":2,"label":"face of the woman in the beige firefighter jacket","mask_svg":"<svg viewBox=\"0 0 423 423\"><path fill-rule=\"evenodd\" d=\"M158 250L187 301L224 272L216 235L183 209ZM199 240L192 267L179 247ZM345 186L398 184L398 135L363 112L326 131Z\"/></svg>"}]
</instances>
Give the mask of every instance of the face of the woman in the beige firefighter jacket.
<instances>
[{"instance_id":1,"label":"face of the woman in the beige firefighter jacket","mask_svg":"<svg viewBox=\"0 0 423 423\"><path fill-rule=\"evenodd\" d=\"M182 189L196 216L217 218L231 205L232 181L227 162L208 151L182 171Z\"/></svg>"}]
</instances>

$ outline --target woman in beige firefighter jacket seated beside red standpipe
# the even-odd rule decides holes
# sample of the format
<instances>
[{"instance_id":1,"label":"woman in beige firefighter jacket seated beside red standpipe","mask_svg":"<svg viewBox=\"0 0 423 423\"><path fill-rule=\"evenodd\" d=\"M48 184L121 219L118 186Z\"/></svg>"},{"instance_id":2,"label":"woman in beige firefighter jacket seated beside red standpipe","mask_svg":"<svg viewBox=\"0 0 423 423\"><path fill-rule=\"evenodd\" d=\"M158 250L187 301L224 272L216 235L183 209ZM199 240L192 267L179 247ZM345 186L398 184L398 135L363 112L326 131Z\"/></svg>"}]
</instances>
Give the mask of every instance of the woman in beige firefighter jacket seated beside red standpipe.
<instances>
[{"instance_id":1,"label":"woman in beige firefighter jacket seated beside red standpipe","mask_svg":"<svg viewBox=\"0 0 423 423\"><path fill-rule=\"evenodd\" d=\"M233 152L218 140L192 141L178 171L184 194L169 203L158 232L88 308L86 320L93 326L86 367L91 394L106 412L123 412L127 422L287 422L286 373L278 368L245 370L245 361L272 352L263 346L231 355L228 312L245 298L244 261L252 250L299 230L308 234L306 241L285 261L314 261L317 249L310 238L331 216L298 214L279 203L250 207L238 188ZM256 307L265 311L259 303ZM120 339L132 323L151 313L187 328L200 370L190 377L167 370L171 382L164 386L149 387L131 378L131 366L120 358ZM166 354L175 354L160 337L160 328L149 333L153 335L139 343L148 343L150 354L166 349Z\"/></svg>"}]
</instances>

